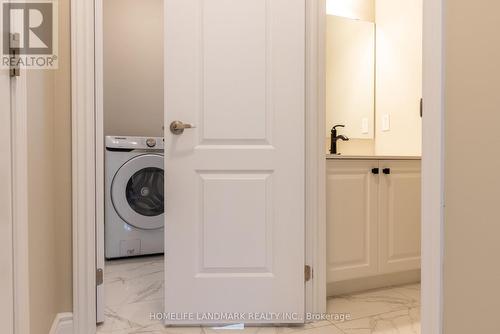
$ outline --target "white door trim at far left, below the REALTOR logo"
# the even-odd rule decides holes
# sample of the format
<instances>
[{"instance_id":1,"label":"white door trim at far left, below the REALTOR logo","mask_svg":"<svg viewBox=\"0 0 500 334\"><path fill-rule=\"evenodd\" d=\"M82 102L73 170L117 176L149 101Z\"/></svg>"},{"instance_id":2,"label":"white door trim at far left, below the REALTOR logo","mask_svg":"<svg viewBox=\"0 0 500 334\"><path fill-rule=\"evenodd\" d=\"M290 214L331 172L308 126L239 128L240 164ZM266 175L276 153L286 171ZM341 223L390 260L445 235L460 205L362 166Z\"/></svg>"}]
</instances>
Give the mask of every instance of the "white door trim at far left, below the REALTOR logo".
<instances>
[{"instance_id":1,"label":"white door trim at far left, below the REALTOR logo","mask_svg":"<svg viewBox=\"0 0 500 334\"><path fill-rule=\"evenodd\" d=\"M5 246L9 251L6 271L10 277L5 284L8 295L5 298L11 307L5 311L10 318L6 328L13 328L14 334L30 333L30 301L29 301L29 258L28 258L28 124L27 124L27 91L26 71L9 80L10 108L3 110L8 120L7 138L3 142L7 146L8 155L4 157L9 165L7 176L10 184L5 185L9 195L8 221L2 222L6 232ZM5 224L4 224L5 223ZM3 226L4 227L4 226ZM2 228L3 228L2 227Z\"/></svg>"}]
</instances>

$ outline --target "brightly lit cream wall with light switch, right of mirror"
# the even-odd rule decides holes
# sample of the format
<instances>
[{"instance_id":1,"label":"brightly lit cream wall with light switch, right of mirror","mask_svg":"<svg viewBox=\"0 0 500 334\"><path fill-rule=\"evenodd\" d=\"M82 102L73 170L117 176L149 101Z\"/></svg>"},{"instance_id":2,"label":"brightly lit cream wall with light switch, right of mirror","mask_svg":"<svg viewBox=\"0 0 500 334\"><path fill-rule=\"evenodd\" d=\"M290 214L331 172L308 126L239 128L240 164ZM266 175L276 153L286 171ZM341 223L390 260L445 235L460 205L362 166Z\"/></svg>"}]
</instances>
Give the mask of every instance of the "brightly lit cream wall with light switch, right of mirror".
<instances>
[{"instance_id":1,"label":"brightly lit cream wall with light switch, right of mirror","mask_svg":"<svg viewBox=\"0 0 500 334\"><path fill-rule=\"evenodd\" d=\"M422 0L376 0L376 135L378 155L420 155ZM390 116L390 131L382 118Z\"/></svg>"}]
</instances>

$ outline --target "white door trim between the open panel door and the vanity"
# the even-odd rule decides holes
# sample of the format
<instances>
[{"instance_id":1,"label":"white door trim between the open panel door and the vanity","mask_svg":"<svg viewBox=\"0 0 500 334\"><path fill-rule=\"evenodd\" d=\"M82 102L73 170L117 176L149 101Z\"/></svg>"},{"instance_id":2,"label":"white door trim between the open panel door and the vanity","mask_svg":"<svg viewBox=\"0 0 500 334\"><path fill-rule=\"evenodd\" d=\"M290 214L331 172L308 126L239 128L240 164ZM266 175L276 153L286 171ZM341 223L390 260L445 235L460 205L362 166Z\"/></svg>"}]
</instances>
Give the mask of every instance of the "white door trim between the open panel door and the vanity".
<instances>
[{"instance_id":1,"label":"white door trim between the open panel door and the vanity","mask_svg":"<svg viewBox=\"0 0 500 334\"><path fill-rule=\"evenodd\" d=\"M306 1L306 312L326 312L326 1Z\"/></svg>"}]
</instances>

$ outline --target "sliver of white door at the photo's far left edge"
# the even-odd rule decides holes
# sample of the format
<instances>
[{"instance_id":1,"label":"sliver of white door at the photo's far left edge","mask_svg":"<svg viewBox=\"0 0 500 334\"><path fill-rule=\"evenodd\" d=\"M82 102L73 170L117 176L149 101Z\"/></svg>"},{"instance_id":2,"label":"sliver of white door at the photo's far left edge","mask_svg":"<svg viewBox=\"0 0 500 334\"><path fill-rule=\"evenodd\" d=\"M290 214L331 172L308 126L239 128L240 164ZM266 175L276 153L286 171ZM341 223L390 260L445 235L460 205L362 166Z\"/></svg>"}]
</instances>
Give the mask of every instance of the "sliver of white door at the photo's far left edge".
<instances>
[{"instance_id":1,"label":"sliver of white door at the photo's far left edge","mask_svg":"<svg viewBox=\"0 0 500 334\"><path fill-rule=\"evenodd\" d=\"M0 26L0 30L2 27ZM1 31L2 35L4 34ZM0 69L0 324L14 333L12 263L11 87L8 69Z\"/></svg>"}]
</instances>

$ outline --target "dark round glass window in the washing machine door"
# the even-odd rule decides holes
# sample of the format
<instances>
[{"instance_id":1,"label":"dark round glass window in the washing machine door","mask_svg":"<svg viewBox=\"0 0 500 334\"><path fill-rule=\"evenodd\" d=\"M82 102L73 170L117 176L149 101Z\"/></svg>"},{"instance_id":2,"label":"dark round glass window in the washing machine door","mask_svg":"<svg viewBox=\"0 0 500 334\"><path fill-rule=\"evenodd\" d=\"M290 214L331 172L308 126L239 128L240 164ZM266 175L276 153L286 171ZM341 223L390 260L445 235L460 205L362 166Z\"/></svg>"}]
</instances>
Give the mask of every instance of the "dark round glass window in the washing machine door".
<instances>
[{"instance_id":1,"label":"dark round glass window in the washing machine door","mask_svg":"<svg viewBox=\"0 0 500 334\"><path fill-rule=\"evenodd\" d=\"M143 168L128 180L125 190L130 207L140 215L154 217L163 214L163 169Z\"/></svg>"}]
</instances>

